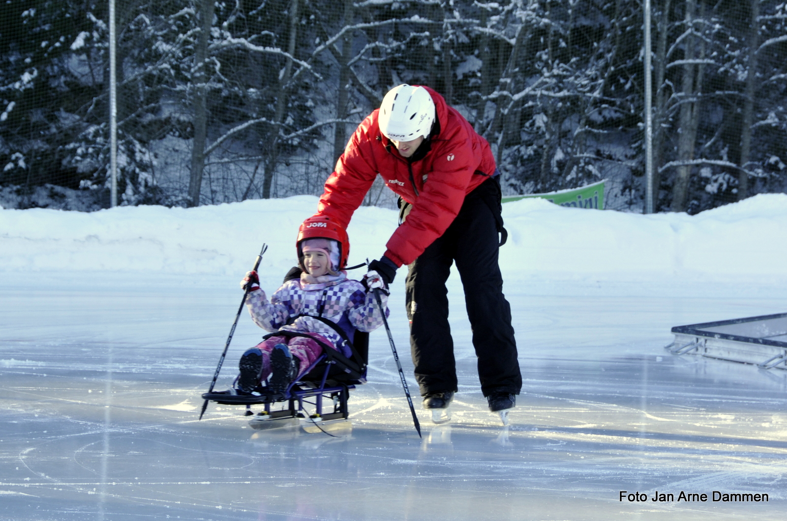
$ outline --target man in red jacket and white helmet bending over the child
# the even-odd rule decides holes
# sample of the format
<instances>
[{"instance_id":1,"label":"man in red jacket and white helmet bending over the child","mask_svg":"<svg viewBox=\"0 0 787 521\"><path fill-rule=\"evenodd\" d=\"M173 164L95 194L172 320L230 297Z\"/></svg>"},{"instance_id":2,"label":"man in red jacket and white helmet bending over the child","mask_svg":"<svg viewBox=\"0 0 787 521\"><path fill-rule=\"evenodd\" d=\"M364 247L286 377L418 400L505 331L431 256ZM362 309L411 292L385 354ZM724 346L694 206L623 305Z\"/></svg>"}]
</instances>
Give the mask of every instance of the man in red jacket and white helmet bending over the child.
<instances>
[{"instance_id":1,"label":"man in red jacket and white helmet bending over the child","mask_svg":"<svg viewBox=\"0 0 787 521\"><path fill-rule=\"evenodd\" d=\"M377 175L400 196L401 225L369 268L386 284L408 264L412 359L424 408L438 419L456 392L445 281L451 264L464 286L490 410L515 405L522 386L511 308L497 264L501 189L489 143L429 87L400 85L347 143L325 183L318 215L346 227ZM444 411L447 416L447 411Z\"/></svg>"}]
</instances>

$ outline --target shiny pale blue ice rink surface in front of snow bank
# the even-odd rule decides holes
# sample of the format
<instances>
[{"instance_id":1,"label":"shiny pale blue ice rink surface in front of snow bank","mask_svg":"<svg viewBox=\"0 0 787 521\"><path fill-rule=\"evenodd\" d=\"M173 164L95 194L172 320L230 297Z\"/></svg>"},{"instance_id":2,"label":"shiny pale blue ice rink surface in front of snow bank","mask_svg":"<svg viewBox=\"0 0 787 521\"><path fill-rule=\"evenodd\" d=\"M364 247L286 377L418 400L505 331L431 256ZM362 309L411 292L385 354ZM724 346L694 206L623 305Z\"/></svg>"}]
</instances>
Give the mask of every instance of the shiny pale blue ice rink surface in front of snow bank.
<instances>
[{"instance_id":1,"label":"shiny pale blue ice rink surface in front of snow bank","mask_svg":"<svg viewBox=\"0 0 787 521\"><path fill-rule=\"evenodd\" d=\"M338 437L215 404L198 422L240 292L157 276L0 280L0 519L784 519L787 371L663 349L672 326L785 312L779 286L507 283L524 386L501 427L452 279L460 392L442 426L416 396L419 439L382 330ZM244 313L218 388L261 333Z\"/></svg>"}]
</instances>

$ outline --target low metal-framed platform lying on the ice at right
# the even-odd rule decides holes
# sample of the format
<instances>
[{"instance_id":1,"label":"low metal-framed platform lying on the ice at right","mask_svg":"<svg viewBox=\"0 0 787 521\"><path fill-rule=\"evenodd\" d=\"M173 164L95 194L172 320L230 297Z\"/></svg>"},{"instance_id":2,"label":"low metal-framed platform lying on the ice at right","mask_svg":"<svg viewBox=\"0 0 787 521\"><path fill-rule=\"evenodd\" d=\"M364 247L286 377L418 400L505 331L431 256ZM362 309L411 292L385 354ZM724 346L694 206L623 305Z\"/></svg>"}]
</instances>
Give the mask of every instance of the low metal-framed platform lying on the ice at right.
<instances>
[{"instance_id":1,"label":"low metal-framed platform lying on the ice at right","mask_svg":"<svg viewBox=\"0 0 787 521\"><path fill-rule=\"evenodd\" d=\"M787 313L676 326L672 333L675 340L664 349L675 355L787 369Z\"/></svg>"}]
</instances>

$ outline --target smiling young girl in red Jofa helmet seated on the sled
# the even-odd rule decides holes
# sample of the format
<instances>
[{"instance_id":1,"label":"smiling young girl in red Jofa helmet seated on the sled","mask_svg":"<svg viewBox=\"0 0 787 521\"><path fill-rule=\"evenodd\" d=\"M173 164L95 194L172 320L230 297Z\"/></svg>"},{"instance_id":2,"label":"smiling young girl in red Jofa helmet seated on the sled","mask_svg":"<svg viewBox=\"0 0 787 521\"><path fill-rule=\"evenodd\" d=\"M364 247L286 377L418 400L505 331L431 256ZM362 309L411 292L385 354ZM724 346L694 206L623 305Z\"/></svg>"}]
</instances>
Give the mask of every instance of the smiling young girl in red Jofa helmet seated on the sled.
<instances>
[{"instance_id":1,"label":"smiling young girl in red Jofa helmet seated on the sled","mask_svg":"<svg viewBox=\"0 0 787 521\"><path fill-rule=\"evenodd\" d=\"M241 287L249 287L246 307L251 318L265 331L291 331L303 336L277 334L243 353L237 392L259 392L268 379L268 390L281 393L305 374L320 357L323 346L352 357L342 334L323 320L330 320L353 341L355 331L374 331L382 314L373 290L379 288L386 316L385 284L377 272L368 272L363 282L347 279L341 271L349 256L349 240L342 227L327 217L310 217L301 224L297 242L300 276L287 279L270 301L260 290L256 272L246 273ZM287 275L290 276L293 271ZM319 318L318 318L319 317ZM320 320L322 319L322 320ZM317 342L319 341L319 342Z\"/></svg>"}]
</instances>

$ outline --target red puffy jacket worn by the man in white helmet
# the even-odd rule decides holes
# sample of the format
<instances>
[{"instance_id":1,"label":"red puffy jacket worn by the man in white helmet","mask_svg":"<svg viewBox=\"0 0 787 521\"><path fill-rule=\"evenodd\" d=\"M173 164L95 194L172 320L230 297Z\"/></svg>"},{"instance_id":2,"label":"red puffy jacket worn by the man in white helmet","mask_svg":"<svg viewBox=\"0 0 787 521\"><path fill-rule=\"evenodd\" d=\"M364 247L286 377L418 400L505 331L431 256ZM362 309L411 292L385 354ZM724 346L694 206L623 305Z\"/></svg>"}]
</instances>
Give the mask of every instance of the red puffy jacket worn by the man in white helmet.
<instances>
[{"instance_id":1,"label":"red puffy jacket worn by the man in white helmet","mask_svg":"<svg viewBox=\"0 0 787 521\"><path fill-rule=\"evenodd\" d=\"M446 105L440 94L424 88L434 100L440 124L438 135L431 136L431 150L417 161L401 157L380 132L379 111L375 110L347 143L317 206L317 215L329 216L347 227L379 173L387 187L412 204L407 220L386 244L386 257L399 266L415 261L443 235L459 213L464 196L495 172L486 139ZM417 151L414 155L419 157Z\"/></svg>"}]
</instances>

